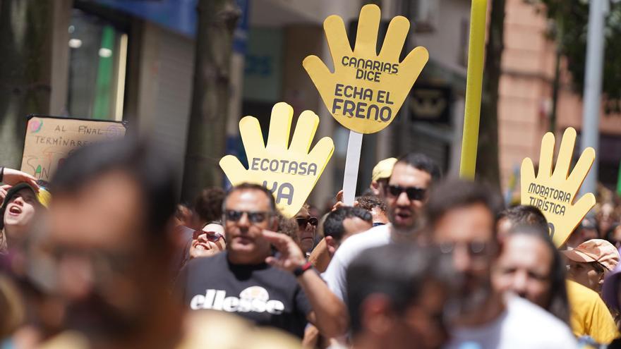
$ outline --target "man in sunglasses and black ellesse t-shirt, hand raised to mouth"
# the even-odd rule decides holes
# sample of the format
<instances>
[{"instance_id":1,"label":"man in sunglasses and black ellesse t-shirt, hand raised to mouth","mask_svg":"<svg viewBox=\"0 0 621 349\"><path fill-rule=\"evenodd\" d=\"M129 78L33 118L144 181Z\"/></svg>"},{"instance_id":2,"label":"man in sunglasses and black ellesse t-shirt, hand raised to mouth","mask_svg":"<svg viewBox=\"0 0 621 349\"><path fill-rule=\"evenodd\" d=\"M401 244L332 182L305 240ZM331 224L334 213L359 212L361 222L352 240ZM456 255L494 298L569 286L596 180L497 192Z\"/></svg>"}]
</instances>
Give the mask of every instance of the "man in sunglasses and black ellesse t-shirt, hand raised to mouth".
<instances>
[{"instance_id":1,"label":"man in sunglasses and black ellesse t-shirt, hand raised to mouth","mask_svg":"<svg viewBox=\"0 0 621 349\"><path fill-rule=\"evenodd\" d=\"M227 251L193 259L177 288L191 310L221 310L300 338L307 322L325 336L346 330L346 310L293 239L277 228L272 193L260 185L232 188L223 203Z\"/></svg>"}]
</instances>

